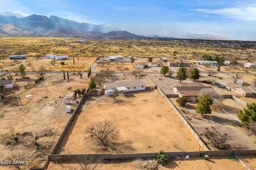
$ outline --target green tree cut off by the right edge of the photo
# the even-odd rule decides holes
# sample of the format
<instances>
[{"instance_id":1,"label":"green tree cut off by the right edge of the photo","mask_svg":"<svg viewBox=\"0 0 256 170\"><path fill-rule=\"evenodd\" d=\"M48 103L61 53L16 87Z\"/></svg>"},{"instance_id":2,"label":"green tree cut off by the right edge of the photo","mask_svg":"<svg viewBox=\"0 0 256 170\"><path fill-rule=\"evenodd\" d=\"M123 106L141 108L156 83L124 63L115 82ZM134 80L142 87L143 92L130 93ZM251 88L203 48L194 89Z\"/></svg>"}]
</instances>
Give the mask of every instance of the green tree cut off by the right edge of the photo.
<instances>
[{"instance_id":1,"label":"green tree cut off by the right edge of the photo","mask_svg":"<svg viewBox=\"0 0 256 170\"><path fill-rule=\"evenodd\" d=\"M246 104L244 110L239 110L237 114L239 120L241 120L243 126L247 126L250 123L256 123L256 103Z\"/></svg>"}]
</instances>

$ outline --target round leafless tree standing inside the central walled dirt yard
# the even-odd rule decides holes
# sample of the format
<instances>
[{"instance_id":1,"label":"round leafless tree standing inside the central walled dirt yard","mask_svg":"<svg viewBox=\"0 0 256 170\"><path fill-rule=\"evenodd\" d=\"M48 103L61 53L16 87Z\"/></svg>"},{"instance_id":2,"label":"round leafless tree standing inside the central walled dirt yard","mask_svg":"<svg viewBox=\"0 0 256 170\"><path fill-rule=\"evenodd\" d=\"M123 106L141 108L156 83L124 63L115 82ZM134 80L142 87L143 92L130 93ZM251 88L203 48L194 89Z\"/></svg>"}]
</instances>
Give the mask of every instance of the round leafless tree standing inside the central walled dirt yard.
<instances>
[{"instance_id":1,"label":"round leafless tree standing inside the central walled dirt yard","mask_svg":"<svg viewBox=\"0 0 256 170\"><path fill-rule=\"evenodd\" d=\"M116 142L119 137L117 128L109 120L90 124L85 133L93 143L97 143L105 149L112 148L112 143Z\"/></svg>"}]
</instances>

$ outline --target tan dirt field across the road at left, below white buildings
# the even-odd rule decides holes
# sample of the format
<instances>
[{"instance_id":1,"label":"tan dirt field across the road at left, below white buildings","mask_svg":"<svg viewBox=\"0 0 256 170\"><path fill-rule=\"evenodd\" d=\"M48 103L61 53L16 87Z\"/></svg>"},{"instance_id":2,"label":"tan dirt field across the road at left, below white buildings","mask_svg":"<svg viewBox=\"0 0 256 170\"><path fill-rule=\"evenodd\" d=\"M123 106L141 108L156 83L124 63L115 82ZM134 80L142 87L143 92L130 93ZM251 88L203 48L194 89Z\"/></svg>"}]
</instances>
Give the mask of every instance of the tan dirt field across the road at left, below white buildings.
<instances>
[{"instance_id":1,"label":"tan dirt field across the road at left, below white buildings","mask_svg":"<svg viewBox=\"0 0 256 170\"><path fill-rule=\"evenodd\" d=\"M51 64L52 59L46 58L28 58L25 60L0 60L2 70L15 70L20 63L25 64L27 71L38 71L43 66L45 70L60 70L60 71L87 71L93 64L96 58L75 58L75 65L73 65L73 58L68 60L57 60L54 65ZM18 62L17 62L18 61ZM60 62L65 62L61 65Z\"/></svg>"}]
</instances>

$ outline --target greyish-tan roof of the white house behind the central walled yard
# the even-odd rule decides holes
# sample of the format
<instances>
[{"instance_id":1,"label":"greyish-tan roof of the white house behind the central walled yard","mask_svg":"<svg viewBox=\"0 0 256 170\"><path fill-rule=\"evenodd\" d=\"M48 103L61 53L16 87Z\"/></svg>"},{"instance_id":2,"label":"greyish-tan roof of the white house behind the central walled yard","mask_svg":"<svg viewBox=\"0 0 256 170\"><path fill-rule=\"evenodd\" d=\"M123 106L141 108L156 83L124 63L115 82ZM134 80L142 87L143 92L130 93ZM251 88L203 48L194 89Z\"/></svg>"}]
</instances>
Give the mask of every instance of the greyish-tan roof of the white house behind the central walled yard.
<instances>
[{"instance_id":1,"label":"greyish-tan roof of the white house behind the central walled yard","mask_svg":"<svg viewBox=\"0 0 256 170\"><path fill-rule=\"evenodd\" d=\"M146 83L142 80L131 80L131 81L123 81L123 82L114 82L114 83L105 83L105 89L113 89L115 87L135 87L135 86L145 86Z\"/></svg>"}]
</instances>

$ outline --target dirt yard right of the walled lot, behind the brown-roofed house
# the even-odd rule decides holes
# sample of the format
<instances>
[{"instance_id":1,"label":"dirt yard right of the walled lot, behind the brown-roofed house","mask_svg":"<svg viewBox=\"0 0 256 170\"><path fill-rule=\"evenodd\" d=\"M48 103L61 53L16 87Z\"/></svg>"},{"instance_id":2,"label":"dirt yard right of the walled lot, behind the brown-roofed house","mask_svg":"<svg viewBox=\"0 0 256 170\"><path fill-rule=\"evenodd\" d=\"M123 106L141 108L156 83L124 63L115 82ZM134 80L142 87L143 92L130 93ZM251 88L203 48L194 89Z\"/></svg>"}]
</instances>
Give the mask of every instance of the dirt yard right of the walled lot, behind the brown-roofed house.
<instances>
[{"instance_id":1,"label":"dirt yard right of the walled lot, behind the brown-roofed house","mask_svg":"<svg viewBox=\"0 0 256 170\"><path fill-rule=\"evenodd\" d=\"M223 99L221 103L218 103L217 108L212 109L212 114L202 117L196 113L195 103L188 103L186 107L180 107L176 103L175 98L171 100L180 110L185 109L187 111L186 114L183 115L187 119L191 119L190 123L195 127L198 134L204 133L206 127L211 129L211 126L213 126L218 132L228 134L229 139L227 143L231 149L256 148L255 135L253 135L249 129L242 127L237 117L239 109L243 109L242 104L231 99ZM219 110L219 108L221 109ZM211 149L216 149L212 147L205 137L203 137L203 139L209 144Z\"/></svg>"}]
</instances>

